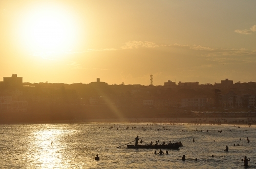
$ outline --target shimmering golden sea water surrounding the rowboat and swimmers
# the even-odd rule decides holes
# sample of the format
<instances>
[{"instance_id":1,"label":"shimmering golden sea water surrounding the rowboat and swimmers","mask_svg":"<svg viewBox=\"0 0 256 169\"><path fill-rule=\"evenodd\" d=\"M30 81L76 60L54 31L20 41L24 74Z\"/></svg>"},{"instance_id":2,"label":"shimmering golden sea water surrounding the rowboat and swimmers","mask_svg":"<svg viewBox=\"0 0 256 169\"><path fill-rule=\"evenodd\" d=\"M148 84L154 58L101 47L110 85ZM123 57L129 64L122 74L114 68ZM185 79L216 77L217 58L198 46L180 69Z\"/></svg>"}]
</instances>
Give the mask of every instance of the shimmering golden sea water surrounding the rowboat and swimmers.
<instances>
[{"instance_id":1,"label":"shimmering golden sea water surrounding the rowboat and swimmers","mask_svg":"<svg viewBox=\"0 0 256 169\"><path fill-rule=\"evenodd\" d=\"M111 129L114 123L2 124L0 168L243 168L244 156L250 158L249 168L256 167L255 126L146 124L115 123ZM167 130L157 130L163 127ZM168 155L155 155L155 149L116 148L137 135L144 143L171 140L184 146L167 150ZM229 152L223 151L226 145ZM96 154L99 161L94 160ZM181 160L183 154L186 161Z\"/></svg>"}]
</instances>

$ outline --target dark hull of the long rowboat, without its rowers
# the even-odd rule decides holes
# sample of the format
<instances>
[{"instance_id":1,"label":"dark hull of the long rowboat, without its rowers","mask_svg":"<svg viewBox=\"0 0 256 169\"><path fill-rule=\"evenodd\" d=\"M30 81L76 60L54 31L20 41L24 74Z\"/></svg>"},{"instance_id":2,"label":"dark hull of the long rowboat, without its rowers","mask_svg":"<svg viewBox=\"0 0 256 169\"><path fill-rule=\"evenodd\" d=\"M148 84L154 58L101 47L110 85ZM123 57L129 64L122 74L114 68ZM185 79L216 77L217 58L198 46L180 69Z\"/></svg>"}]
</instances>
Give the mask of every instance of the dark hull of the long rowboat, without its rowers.
<instances>
[{"instance_id":1,"label":"dark hull of the long rowboat, without its rowers","mask_svg":"<svg viewBox=\"0 0 256 169\"><path fill-rule=\"evenodd\" d=\"M174 143L174 144L170 144L170 145L157 145L157 146L150 146L150 145L127 145L128 149L179 149L180 147L182 147L183 145L179 142L179 143Z\"/></svg>"}]
</instances>

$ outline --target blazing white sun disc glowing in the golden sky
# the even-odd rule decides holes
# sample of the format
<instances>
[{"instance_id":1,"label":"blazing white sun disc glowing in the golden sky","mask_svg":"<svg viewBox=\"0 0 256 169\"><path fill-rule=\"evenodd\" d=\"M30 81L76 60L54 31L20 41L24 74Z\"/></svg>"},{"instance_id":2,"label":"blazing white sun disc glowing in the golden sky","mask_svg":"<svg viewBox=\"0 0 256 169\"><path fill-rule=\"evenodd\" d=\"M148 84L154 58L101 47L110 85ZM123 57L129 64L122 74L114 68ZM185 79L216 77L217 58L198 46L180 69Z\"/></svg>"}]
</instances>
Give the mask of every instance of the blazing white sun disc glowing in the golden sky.
<instances>
[{"instance_id":1,"label":"blazing white sun disc glowing in the golden sky","mask_svg":"<svg viewBox=\"0 0 256 169\"><path fill-rule=\"evenodd\" d=\"M58 52L70 49L76 34L74 19L57 7L30 11L23 23L23 41L33 52Z\"/></svg>"}]
</instances>

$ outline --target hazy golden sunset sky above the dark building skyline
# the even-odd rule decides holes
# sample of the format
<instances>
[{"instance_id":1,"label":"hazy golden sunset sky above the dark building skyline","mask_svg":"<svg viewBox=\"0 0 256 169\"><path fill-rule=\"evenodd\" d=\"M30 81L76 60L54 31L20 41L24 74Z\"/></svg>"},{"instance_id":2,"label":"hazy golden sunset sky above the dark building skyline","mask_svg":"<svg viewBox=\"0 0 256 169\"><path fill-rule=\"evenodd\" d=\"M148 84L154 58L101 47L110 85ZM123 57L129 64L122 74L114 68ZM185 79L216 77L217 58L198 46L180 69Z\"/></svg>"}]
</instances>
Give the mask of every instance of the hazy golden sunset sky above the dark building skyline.
<instances>
[{"instance_id":1,"label":"hazy golden sunset sky above the dark building skyline","mask_svg":"<svg viewBox=\"0 0 256 169\"><path fill-rule=\"evenodd\" d=\"M256 81L256 1L3 1L0 81Z\"/></svg>"}]
</instances>

